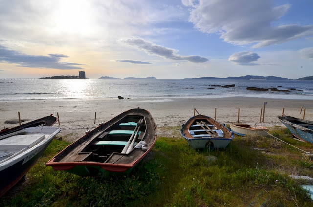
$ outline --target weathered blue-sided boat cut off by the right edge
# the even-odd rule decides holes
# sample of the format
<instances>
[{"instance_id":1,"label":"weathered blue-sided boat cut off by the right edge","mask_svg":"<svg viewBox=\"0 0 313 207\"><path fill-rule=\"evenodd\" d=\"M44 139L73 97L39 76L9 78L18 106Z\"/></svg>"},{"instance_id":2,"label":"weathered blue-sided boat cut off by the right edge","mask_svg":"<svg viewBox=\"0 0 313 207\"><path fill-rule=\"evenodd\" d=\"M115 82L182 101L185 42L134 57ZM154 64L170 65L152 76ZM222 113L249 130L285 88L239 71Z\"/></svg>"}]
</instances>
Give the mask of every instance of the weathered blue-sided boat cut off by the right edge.
<instances>
[{"instance_id":1,"label":"weathered blue-sided boat cut off by the right edge","mask_svg":"<svg viewBox=\"0 0 313 207\"><path fill-rule=\"evenodd\" d=\"M278 116L278 119L291 131L291 133L305 141L313 144L313 122L298 119L291 116Z\"/></svg>"}]
</instances>

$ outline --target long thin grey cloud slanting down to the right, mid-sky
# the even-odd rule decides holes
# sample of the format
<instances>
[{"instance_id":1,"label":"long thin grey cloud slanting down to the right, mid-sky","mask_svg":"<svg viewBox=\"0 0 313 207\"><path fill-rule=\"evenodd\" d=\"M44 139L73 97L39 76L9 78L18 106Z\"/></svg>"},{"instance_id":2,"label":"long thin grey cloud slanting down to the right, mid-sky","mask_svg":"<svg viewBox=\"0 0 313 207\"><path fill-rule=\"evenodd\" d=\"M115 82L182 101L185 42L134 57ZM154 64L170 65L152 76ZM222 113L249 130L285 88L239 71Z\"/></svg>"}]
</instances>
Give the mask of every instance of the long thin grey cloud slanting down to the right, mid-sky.
<instances>
[{"instance_id":1,"label":"long thin grey cloud slanting down to the right, mid-sky","mask_svg":"<svg viewBox=\"0 0 313 207\"><path fill-rule=\"evenodd\" d=\"M148 54L152 55L158 55L167 59L172 59L172 60L186 60L189 62L206 62L209 59L205 57L201 57L198 55L190 55L190 56L182 56L182 55L177 55L176 53L178 52L175 49L163 47L160 45L153 44L151 42L145 41L141 38L129 38L129 39L123 39L121 42L133 46L139 50L143 50Z\"/></svg>"}]
</instances>

